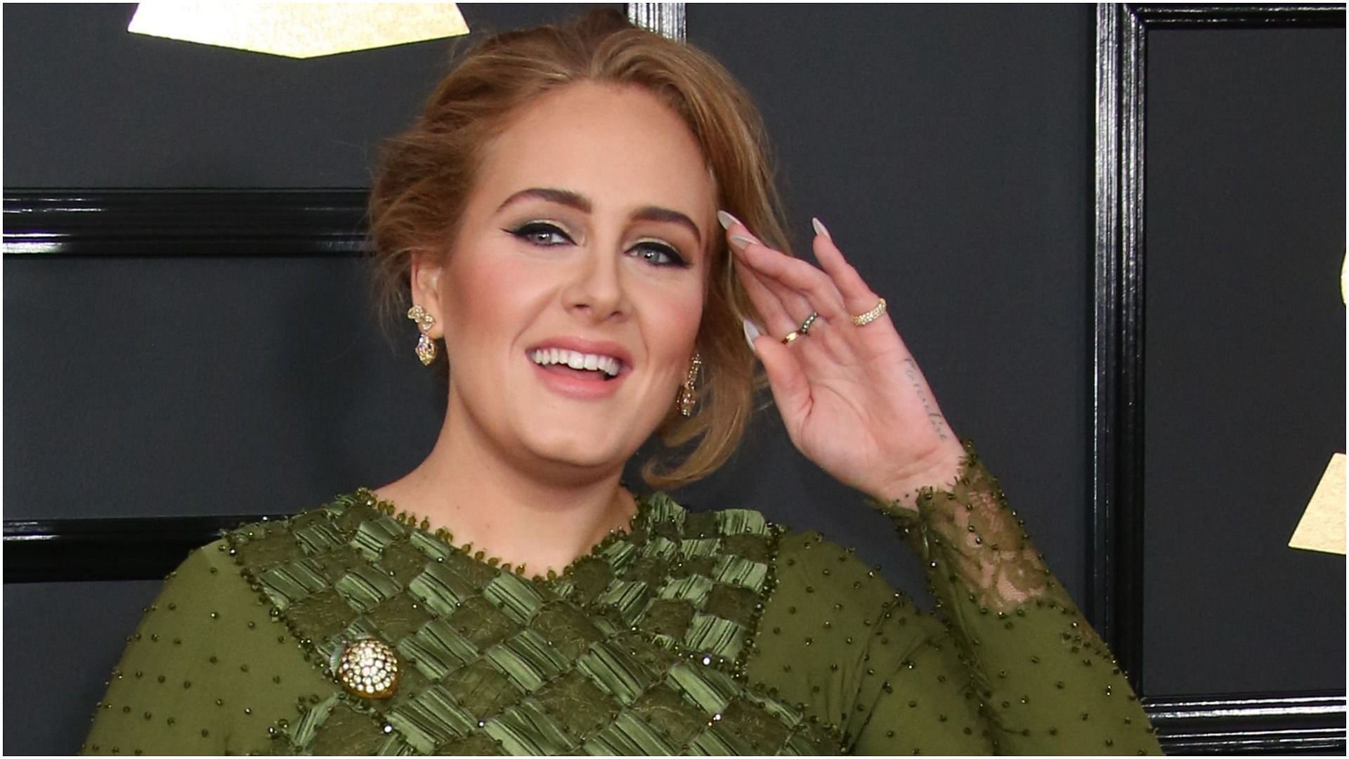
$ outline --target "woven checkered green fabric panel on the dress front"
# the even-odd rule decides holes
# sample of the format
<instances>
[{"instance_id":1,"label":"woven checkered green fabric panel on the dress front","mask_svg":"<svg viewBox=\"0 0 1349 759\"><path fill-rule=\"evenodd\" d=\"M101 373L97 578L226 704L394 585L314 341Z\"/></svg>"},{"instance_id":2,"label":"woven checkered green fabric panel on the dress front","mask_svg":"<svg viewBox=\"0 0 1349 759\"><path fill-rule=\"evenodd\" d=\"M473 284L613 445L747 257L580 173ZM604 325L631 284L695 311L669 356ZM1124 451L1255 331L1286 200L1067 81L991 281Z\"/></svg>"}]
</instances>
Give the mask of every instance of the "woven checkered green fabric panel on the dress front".
<instances>
[{"instance_id":1,"label":"woven checkered green fabric panel on the dress front","mask_svg":"<svg viewBox=\"0 0 1349 759\"><path fill-rule=\"evenodd\" d=\"M838 752L745 675L780 538L758 512L645 497L629 535L526 579L386 509L360 490L228 535L316 667L368 636L406 670L274 725L277 752Z\"/></svg>"}]
</instances>

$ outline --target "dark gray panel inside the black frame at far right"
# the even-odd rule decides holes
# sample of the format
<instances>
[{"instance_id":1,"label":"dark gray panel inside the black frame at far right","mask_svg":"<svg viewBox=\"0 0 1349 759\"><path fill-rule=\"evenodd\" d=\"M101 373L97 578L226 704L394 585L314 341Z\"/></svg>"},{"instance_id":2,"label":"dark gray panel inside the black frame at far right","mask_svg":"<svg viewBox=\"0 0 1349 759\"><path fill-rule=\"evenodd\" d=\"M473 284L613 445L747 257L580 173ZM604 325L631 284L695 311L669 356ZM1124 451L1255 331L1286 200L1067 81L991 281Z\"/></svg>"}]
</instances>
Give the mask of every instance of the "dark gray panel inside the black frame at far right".
<instances>
[{"instance_id":1,"label":"dark gray panel inside the black frame at far right","mask_svg":"<svg viewBox=\"0 0 1349 759\"><path fill-rule=\"evenodd\" d=\"M1148 38L1152 693L1345 685L1345 559L1288 548L1345 450L1344 70L1344 30Z\"/></svg>"}]
</instances>

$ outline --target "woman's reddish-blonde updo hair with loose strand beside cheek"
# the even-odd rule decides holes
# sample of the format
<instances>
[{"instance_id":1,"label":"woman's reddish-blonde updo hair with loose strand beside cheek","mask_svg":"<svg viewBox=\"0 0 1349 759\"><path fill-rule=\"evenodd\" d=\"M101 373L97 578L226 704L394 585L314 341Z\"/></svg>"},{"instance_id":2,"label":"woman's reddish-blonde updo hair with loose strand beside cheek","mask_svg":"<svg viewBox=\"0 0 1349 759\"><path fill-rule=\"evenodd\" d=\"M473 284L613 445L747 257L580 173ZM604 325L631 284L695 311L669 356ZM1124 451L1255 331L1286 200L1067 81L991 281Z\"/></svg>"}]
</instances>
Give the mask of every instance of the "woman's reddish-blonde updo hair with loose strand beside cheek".
<instances>
[{"instance_id":1,"label":"woman's reddish-blonde updo hair with loose strand beside cheek","mask_svg":"<svg viewBox=\"0 0 1349 759\"><path fill-rule=\"evenodd\" d=\"M718 208L788 251L762 117L741 85L710 55L638 28L618 11L592 11L561 26L507 31L471 47L437 85L421 117L384 145L370 194L370 240L386 317L401 317L411 253L442 250L457 232L482 146L541 95L573 82L639 86L666 103L701 147ZM684 417L669 400L657 427L670 448L697 440L670 467L649 461L656 488L700 479L734 452L762 385L742 317L762 324L731 266L724 235L707 243L707 296L696 338L703 357L697 407ZM452 255L452 251L447 251Z\"/></svg>"}]
</instances>

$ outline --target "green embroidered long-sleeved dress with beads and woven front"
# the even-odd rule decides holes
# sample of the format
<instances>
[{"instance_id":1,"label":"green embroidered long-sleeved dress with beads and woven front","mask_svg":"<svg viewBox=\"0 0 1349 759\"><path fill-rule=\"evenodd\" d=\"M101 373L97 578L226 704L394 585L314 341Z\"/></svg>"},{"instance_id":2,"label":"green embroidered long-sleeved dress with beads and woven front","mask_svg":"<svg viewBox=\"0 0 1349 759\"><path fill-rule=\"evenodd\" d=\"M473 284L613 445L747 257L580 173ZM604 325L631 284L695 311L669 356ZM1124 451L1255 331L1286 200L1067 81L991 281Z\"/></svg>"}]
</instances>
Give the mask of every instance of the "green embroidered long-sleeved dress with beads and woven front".
<instances>
[{"instance_id":1,"label":"green embroidered long-sleeved dress with beads and woven front","mask_svg":"<svg viewBox=\"0 0 1349 759\"><path fill-rule=\"evenodd\" d=\"M193 552L128 639L92 754L1159 754L1109 650L969 455L919 513L946 623L753 511L642 497L553 578L368 490ZM885 508L881 504L876 504ZM332 675L401 662L389 698Z\"/></svg>"}]
</instances>

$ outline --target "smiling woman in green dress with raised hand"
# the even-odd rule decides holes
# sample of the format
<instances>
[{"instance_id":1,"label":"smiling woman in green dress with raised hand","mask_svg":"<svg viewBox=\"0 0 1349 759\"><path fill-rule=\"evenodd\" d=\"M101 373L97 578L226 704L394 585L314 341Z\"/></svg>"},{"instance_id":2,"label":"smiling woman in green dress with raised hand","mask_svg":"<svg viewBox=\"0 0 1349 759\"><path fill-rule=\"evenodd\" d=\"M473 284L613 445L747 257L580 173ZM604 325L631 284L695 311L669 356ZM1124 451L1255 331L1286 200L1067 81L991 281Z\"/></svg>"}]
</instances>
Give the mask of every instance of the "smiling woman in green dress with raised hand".
<instances>
[{"instance_id":1,"label":"smiling woman in green dress with raised hand","mask_svg":"<svg viewBox=\"0 0 1349 759\"><path fill-rule=\"evenodd\" d=\"M1156 752L885 301L819 221L819 269L784 253L761 135L720 66L612 12L473 50L371 197L451 367L434 448L194 552L85 750ZM656 485L724 462L755 361L946 627L819 535L622 485L652 432L692 444Z\"/></svg>"}]
</instances>

